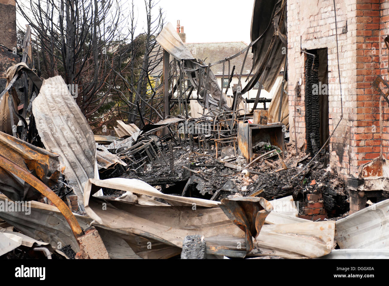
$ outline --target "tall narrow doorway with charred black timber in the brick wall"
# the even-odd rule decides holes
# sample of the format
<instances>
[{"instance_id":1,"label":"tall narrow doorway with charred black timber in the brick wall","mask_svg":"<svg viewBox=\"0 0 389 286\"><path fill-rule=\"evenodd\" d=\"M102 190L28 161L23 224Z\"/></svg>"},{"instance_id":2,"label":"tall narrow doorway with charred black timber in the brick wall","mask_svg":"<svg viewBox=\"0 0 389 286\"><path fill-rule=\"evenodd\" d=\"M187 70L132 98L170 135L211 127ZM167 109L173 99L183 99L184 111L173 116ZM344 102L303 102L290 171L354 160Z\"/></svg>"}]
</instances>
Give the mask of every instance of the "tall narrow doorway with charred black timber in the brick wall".
<instances>
[{"instance_id":1,"label":"tall narrow doorway with charred black timber in the brick wall","mask_svg":"<svg viewBox=\"0 0 389 286\"><path fill-rule=\"evenodd\" d=\"M307 52L309 54L306 54L305 58L305 138L307 152L316 154L329 137L328 49Z\"/></svg>"}]
</instances>

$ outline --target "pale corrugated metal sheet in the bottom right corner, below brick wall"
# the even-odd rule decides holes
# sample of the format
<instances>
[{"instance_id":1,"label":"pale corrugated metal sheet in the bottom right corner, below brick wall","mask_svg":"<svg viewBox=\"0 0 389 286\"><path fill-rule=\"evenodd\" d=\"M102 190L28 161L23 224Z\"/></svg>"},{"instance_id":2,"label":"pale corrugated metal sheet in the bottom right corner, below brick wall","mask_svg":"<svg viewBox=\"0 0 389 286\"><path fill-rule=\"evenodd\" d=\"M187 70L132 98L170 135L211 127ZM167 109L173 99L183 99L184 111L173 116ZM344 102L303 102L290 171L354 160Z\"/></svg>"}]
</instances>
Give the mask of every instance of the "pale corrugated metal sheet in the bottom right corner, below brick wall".
<instances>
[{"instance_id":1,"label":"pale corrugated metal sheet in the bottom right corner, below brick wall","mask_svg":"<svg viewBox=\"0 0 389 286\"><path fill-rule=\"evenodd\" d=\"M336 221L340 248L389 249L389 199Z\"/></svg>"}]
</instances>

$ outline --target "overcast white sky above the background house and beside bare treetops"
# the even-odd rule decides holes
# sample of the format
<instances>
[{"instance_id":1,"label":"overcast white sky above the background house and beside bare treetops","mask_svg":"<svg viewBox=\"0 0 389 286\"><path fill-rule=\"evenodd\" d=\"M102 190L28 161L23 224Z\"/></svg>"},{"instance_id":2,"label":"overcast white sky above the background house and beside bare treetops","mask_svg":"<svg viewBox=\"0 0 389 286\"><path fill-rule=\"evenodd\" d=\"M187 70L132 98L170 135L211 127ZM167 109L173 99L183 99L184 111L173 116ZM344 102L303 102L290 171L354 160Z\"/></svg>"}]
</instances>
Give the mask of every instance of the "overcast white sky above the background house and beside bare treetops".
<instances>
[{"instance_id":1,"label":"overcast white sky above the background house and beside bare treetops","mask_svg":"<svg viewBox=\"0 0 389 286\"><path fill-rule=\"evenodd\" d=\"M144 0L134 0L134 4L140 28L145 19ZM180 20L186 42L250 42L254 0L159 0L157 5L165 12L166 23L175 27Z\"/></svg>"}]
</instances>

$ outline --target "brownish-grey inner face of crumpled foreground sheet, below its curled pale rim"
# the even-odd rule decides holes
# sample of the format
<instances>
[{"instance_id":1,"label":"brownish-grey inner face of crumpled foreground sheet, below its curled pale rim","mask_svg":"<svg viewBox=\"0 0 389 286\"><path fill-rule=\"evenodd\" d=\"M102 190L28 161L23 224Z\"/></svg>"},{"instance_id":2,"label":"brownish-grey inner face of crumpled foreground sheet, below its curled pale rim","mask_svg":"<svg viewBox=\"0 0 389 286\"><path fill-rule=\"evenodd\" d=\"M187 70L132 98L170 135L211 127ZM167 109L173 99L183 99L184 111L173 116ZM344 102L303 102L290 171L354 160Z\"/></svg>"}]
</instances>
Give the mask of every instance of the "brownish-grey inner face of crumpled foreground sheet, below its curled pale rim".
<instances>
[{"instance_id":1,"label":"brownish-grey inner face of crumpled foreground sheet, below its curled pale rim","mask_svg":"<svg viewBox=\"0 0 389 286\"><path fill-rule=\"evenodd\" d=\"M104 210L103 203L106 203ZM174 250L182 247L182 241L187 235L201 233L211 253L221 251L237 257L246 255L245 233L219 208L198 206L194 210L189 206L144 206L98 198L89 201L86 207L89 214L88 208L93 211L91 218L98 216L102 226L126 232L129 235L126 240L132 238L135 242L139 236L148 241L153 239L163 243L164 247L165 244L173 246ZM239 244L241 249L237 249ZM141 253L137 254L141 256ZM173 251L172 254L177 253Z\"/></svg>"}]
</instances>

